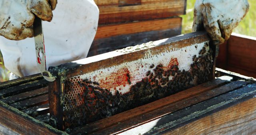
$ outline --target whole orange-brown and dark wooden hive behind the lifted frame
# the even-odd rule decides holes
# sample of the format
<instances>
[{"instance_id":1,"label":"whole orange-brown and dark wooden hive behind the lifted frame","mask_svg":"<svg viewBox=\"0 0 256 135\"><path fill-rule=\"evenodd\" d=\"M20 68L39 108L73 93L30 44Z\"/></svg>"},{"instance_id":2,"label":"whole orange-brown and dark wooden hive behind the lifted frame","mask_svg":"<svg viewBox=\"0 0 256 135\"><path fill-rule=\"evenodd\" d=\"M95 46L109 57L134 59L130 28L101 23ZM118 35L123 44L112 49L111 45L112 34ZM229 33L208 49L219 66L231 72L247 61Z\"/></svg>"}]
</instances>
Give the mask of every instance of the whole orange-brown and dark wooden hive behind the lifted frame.
<instances>
[{"instance_id":1,"label":"whole orange-brown and dark wooden hive behind the lifted frame","mask_svg":"<svg viewBox=\"0 0 256 135\"><path fill-rule=\"evenodd\" d=\"M186 0L94 0L98 30L88 56L181 34Z\"/></svg>"}]
</instances>

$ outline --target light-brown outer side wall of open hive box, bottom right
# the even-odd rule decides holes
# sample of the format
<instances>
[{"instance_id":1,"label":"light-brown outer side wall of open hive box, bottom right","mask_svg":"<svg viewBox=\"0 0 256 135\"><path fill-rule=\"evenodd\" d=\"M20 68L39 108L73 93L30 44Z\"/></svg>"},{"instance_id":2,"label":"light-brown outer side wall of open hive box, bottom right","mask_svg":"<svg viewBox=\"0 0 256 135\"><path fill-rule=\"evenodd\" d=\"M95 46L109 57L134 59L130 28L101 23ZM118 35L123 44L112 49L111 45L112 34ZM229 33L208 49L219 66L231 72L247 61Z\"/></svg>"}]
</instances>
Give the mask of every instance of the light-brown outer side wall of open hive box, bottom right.
<instances>
[{"instance_id":1,"label":"light-brown outer side wall of open hive box, bottom right","mask_svg":"<svg viewBox=\"0 0 256 135\"><path fill-rule=\"evenodd\" d=\"M256 99L239 103L209 116L174 129L171 135L232 134L253 135L256 133Z\"/></svg>"}]
</instances>

